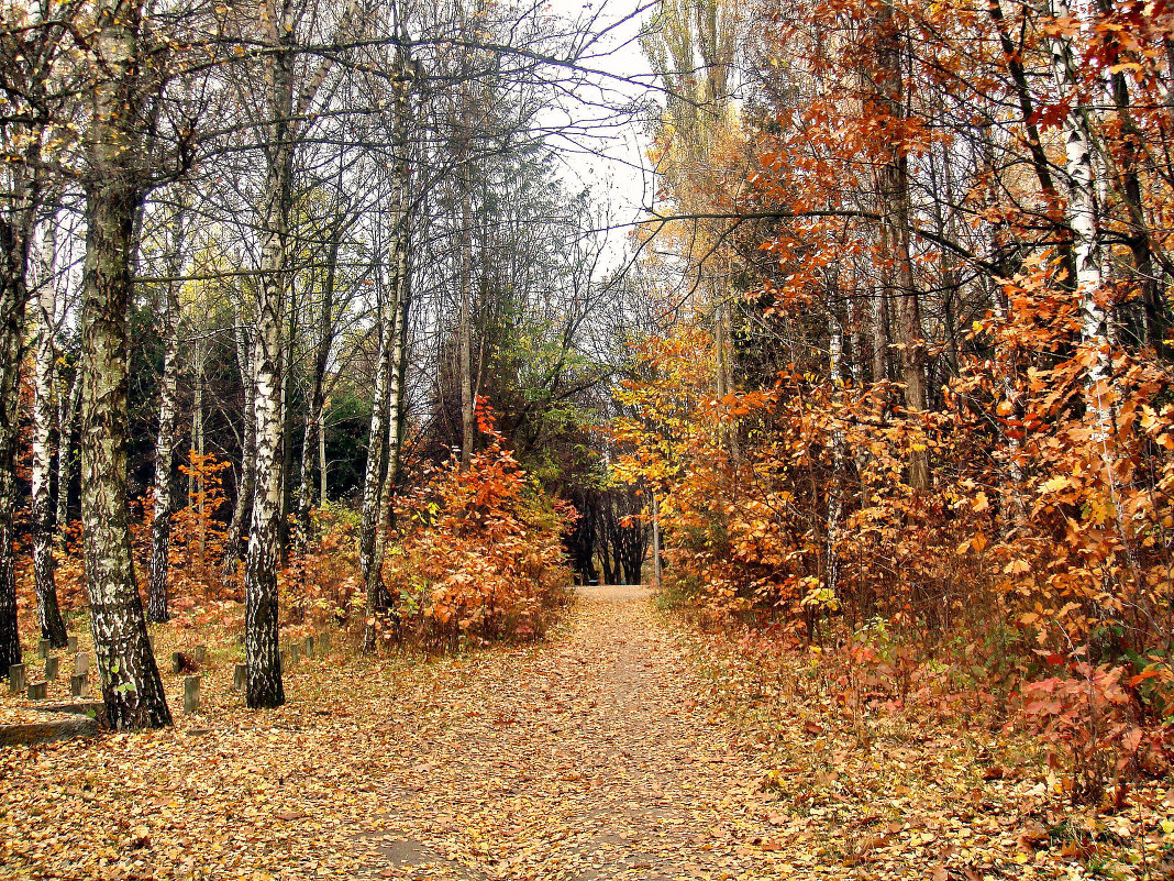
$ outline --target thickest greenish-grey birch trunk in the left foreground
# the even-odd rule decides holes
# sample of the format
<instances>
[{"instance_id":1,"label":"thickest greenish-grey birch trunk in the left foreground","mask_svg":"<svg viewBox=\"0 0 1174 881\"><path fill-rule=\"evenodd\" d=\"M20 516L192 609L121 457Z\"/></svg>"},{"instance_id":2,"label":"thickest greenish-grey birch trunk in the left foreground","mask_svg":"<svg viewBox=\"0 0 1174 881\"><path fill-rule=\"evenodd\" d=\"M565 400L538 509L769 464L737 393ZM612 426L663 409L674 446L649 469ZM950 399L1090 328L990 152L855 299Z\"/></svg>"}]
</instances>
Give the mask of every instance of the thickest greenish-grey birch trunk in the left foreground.
<instances>
[{"instance_id":1,"label":"thickest greenish-grey birch trunk in the left foreground","mask_svg":"<svg viewBox=\"0 0 1174 881\"><path fill-rule=\"evenodd\" d=\"M147 638L127 510L127 308L131 228L141 190L135 89L137 4L95 8L103 72L89 126L88 230L81 312L81 513L90 627L107 718L117 729L170 725L163 682Z\"/></svg>"}]
</instances>

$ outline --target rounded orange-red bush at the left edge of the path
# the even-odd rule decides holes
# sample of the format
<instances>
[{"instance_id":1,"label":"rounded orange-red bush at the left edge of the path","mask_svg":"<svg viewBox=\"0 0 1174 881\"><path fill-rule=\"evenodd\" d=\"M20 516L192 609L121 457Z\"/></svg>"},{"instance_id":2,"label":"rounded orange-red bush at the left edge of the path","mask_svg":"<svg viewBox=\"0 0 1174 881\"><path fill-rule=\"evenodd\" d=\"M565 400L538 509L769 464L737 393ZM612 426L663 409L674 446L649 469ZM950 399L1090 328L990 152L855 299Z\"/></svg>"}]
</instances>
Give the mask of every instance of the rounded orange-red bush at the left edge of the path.
<instances>
[{"instance_id":1,"label":"rounded orange-red bush at the left edge of the path","mask_svg":"<svg viewBox=\"0 0 1174 881\"><path fill-rule=\"evenodd\" d=\"M429 469L396 510L384 578L402 633L429 646L537 637L571 584L573 510L528 479L484 408L478 424L468 466Z\"/></svg>"}]
</instances>

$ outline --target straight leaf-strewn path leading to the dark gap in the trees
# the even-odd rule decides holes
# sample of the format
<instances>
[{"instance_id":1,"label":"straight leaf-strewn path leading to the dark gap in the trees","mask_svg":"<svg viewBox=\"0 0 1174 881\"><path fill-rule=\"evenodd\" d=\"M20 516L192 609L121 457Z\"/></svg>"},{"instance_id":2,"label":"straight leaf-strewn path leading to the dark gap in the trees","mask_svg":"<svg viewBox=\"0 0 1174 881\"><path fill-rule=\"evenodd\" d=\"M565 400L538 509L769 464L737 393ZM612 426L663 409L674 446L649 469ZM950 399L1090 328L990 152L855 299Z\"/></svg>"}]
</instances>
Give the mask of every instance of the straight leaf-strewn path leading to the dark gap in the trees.
<instances>
[{"instance_id":1,"label":"straight leaf-strewn path leading to the dark gap in the trees","mask_svg":"<svg viewBox=\"0 0 1174 881\"><path fill-rule=\"evenodd\" d=\"M391 866L370 868L583 881L767 873L769 854L740 847L754 838L761 772L697 704L648 592L581 593L562 638L477 671L468 687L486 706L419 756L432 786L397 805L389 834L404 838L385 848Z\"/></svg>"}]
</instances>

